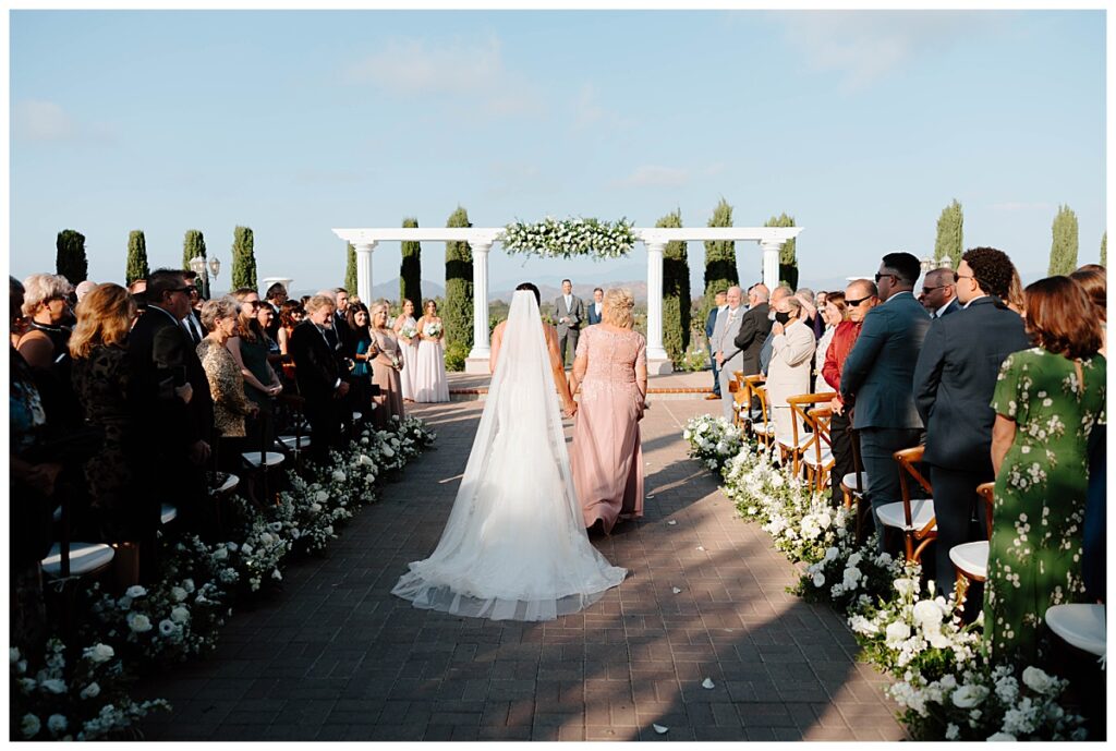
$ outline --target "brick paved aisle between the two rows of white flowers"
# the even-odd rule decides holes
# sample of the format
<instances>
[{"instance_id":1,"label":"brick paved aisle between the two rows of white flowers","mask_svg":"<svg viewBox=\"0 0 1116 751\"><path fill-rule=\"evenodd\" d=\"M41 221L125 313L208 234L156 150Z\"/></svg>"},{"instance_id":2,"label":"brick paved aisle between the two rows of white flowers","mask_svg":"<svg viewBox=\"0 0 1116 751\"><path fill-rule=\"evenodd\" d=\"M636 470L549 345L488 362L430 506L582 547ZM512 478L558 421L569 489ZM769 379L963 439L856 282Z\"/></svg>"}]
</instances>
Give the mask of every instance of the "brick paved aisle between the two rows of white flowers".
<instances>
[{"instance_id":1,"label":"brick paved aisle between the two rows of white flowers","mask_svg":"<svg viewBox=\"0 0 1116 751\"><path fill-rule=\"evenodd\" d=\"M239 609L210 659L146 682L144 695L175 707L145 724L147 738L902 739L886 680L855 662L841 619L785 591L793 567L686 459L682 425L709 404L648 411L646 517L595 539L632 575L588 612L545 624L458 618L391 596L441 535L483 404L415 410L437 449L328 558L296 561L283 591Z\"/></svg>"}]
</instances>

